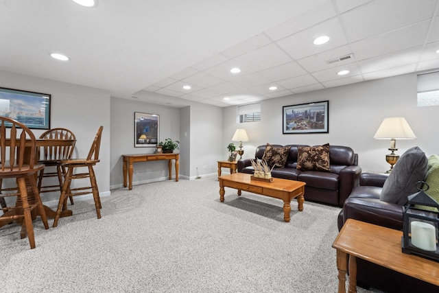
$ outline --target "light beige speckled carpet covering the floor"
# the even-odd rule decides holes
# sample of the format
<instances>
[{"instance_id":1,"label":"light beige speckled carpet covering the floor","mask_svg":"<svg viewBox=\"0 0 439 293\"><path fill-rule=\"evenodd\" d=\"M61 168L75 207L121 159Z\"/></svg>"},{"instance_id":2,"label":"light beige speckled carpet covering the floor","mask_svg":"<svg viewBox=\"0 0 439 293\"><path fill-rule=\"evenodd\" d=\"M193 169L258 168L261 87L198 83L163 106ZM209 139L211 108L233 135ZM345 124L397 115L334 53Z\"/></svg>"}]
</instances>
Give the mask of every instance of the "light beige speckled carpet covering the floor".
<instances>
[{"instance_id":1,"label":"light beige speckled carpet covering the floor","mask_svg":"<svg viewBox=\"0 0 439 293\"><path fill-rule=\"evenodd\" d=\"M285 223L281 200L218 191L216 178L113 190L100 220L77 200L57 228L34 222L34 250L3 227L1 291L337 292L340 208L294 201Z\"/></svg>"}]
</instances>

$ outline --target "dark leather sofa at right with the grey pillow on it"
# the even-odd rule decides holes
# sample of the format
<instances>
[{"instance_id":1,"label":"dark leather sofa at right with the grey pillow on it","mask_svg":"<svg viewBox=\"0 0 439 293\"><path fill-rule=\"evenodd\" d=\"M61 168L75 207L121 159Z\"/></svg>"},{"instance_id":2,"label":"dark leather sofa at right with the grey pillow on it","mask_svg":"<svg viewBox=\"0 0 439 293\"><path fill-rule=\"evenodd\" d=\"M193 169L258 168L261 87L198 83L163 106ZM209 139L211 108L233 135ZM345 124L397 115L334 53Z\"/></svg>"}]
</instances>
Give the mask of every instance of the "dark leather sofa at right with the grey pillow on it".
<instances>
[{"instance_id":1,"label":"dark leather sofa at right with the grey pillow on it","mask_svg":"<svg viewBox=\"0 0 439 293\"><path fill-rule=\"evenodd\" d=\"M388 174L361 174L359 186L346 199L337 219L338 229L347 219L355 219L396 230L403 230L403 205L381 201L380 194ZM439 266L439 263L438 263ZM385 292L439 292L439 287L357 258L357 285Z\"/></svg>"}]
</instances>

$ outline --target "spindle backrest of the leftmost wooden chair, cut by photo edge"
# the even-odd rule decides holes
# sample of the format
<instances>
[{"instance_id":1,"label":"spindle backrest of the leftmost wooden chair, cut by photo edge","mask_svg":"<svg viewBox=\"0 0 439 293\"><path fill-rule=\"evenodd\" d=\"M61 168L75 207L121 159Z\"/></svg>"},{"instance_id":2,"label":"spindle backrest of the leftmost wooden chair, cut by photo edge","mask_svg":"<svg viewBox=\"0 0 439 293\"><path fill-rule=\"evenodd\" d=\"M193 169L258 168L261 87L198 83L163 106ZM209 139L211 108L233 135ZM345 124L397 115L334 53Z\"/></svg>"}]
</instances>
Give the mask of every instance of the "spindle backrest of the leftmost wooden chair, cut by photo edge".
<instances>
[{"instance_id":1,"label":"spindle backrest of the leftmost wooden chair, cut by photo edge","mask_svg":"<svg viewBox=\"0 0 439 293\"><path fill-rule=\"evenodd\" d=\"M14 172L16 169L21 171L23 167L34 168L34 133L14 119L0 116L0 121L0 171ZM9 127L10 131L6 131Z\"/></svg>"}]
</instances>

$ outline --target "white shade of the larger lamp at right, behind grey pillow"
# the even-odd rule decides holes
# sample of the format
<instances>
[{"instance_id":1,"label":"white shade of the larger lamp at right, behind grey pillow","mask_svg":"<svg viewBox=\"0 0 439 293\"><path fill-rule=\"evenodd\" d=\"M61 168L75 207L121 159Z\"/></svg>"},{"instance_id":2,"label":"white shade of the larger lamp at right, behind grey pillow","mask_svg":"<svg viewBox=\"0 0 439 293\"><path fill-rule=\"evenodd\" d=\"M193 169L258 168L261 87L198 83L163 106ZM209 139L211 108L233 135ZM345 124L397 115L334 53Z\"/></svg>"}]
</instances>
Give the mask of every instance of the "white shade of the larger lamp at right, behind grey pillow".
<instances>
[{"instance_id":1,"label":"white shade of the larger lamp at right, behind grey pillow","mask_svg":"<svg viewBox=\"0 0 439 293\"><path fill-rule=\"evenodd\" d=\"M381 122L374 139L416 139L404 117L388 117Z\"/></svg>"}]
</instances>

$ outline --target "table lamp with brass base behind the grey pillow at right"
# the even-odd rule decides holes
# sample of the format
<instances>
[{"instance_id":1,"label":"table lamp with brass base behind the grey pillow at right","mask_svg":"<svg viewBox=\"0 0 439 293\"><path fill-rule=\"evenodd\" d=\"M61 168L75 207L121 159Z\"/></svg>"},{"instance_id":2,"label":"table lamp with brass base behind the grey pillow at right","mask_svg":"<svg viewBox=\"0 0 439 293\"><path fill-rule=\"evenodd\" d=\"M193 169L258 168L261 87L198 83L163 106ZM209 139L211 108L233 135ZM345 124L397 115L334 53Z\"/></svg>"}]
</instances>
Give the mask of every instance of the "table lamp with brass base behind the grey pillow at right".
<instances>
[{"instance_id":1,"label":"table lamp with brass base behind the grey pillow at right","mask_svg":"<svg viewBox=\"0 0 439 293\"><path fill-rule=\"evenodd\" d=\"M399 159L399 154L394 153L394 151L398 150L396 148L396 139L416 139L416 136L404 117L388 117L381 122L373 138L390 139L390 148L388 150L392 151L392 153L385 155L385 161L390 164L390 170L387 173L390 173L392 172L393 165Z\"/></svg>"}]
</instances>

